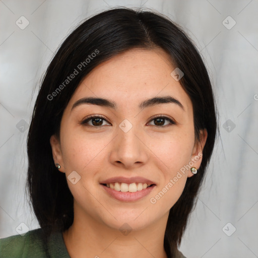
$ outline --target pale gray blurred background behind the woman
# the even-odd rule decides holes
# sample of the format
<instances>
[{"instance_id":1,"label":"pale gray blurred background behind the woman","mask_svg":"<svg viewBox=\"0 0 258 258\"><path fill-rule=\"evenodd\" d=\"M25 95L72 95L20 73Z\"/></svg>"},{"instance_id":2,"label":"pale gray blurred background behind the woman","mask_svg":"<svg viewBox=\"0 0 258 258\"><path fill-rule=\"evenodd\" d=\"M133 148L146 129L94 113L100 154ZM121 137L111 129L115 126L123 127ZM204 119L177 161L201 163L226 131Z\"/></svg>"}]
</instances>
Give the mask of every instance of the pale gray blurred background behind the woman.
<instances>
[{"instance_id":1,"label":"pale gray blurred background behind the woman","mask_svg":"<svg viewBox=\"0 0 258 258\"><path fill-rule=\"evenodd\" d=\"M180 250L189 258L258 257L257 0L0 0L0 238L39 227L25 197L26 137L47 64L79 22L118 5L154 8L180 24L214 85L221 138Z\"/></svg>"}]
</instances>

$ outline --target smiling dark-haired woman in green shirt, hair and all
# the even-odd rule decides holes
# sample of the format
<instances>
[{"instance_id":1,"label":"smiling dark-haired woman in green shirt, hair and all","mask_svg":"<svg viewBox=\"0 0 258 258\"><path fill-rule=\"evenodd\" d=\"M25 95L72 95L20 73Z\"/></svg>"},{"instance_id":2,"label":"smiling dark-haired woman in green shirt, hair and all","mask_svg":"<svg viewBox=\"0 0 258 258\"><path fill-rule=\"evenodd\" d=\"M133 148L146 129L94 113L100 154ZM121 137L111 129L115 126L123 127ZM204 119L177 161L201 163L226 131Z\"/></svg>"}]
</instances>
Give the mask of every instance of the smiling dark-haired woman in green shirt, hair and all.
<instances>
[{"instance_id":1,"label":"smiling dark-haired woman in green shirt, hair and all","mask_svg":"<svg viewBox=\"0 0 258 258\"><path fill-rule=\"evenodd\" d=\"M178 250L214 148L212 86L168 18L115 8L62 43L30 124L40 228L1 257L185 257Z\"/></svg>"}]
</instances>

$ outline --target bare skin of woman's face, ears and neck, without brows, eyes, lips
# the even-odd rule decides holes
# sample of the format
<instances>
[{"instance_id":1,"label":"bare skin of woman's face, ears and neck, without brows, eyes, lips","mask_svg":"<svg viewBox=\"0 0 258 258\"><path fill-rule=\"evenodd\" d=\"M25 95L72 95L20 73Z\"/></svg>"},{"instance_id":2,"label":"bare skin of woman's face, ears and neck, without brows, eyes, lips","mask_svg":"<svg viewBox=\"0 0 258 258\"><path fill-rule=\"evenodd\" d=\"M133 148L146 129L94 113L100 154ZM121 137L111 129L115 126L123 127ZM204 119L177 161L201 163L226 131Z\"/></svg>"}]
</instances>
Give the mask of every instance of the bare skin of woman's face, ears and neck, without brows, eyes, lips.
<instances>
[{"instance_id":1,"label":"bare skin of woman's face, ears and neck, without brows, eyes, lips","mask_svg":"<svg viewBox=\"0 0 258 258\"><path fill-rule=\"evenodd\" d=\"M150 202L177 172L202 153L207 131L195 142L193 109L188 95L170 73L175 68L162 49L132 49L101 63L80 83L64 110L60 139L51 136L53 159L66 176L76 171L81 179L73 184L74 222L63 232L64 243L72 258L80 257L167 257L164 233L170 208L179 199L190 170L155 204ZM101 97L117 104L117 110L81 104L83 97ZM174 103L157 104L140 110L148 98L173 96ZM85 117L106 117L102 125L80 124ZM169 120L159 125L154 115ZM119 124L127 119L133 127L127 133ZM155 121L156 124L155 125ZM95 120L96 122L96 120ZM101 124L101 123L98 123ZM170 125L167 125L170 124ZM193 162L197 169L202 157ZM143 176L155 182L152 192L135 202L110 197L99 182L113 176ZM132 231L124 235L119 228L127 223Z\"/></svg>"}]
</instances>

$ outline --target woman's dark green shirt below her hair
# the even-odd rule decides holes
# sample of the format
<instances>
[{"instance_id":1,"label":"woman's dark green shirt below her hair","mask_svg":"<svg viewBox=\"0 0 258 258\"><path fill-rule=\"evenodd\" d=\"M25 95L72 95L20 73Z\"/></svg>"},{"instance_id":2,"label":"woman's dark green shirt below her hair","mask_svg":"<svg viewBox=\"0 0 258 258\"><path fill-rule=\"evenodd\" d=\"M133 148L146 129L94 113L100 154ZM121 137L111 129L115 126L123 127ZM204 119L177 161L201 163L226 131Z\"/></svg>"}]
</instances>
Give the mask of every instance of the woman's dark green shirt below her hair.
<instances>
[{"instance_id":1,"label":"woman's dark green shirt below her hair","mask_svg":"<svg viewBox=\"0 0 258 258\"><path fill-rule=\"evenodd\" d=\"M13 235L0 239L0 258L71 258L62 233L49 236L44 247L41 228L28 231L24 236ZM178 251L175 258L186 258Z\"/></svg>"}]
</instances>

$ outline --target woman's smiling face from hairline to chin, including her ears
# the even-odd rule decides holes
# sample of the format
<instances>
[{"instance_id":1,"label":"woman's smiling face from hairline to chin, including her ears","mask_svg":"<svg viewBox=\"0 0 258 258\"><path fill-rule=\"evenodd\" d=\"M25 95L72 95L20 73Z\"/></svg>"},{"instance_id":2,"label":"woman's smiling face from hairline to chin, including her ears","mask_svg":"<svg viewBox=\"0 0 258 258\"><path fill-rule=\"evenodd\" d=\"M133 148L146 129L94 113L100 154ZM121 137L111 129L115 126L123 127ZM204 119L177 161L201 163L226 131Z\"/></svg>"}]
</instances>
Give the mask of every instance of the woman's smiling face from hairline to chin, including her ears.
<instances>
[{"instance_id":1,"label":"woman's smiling face from hairline to chin, including her ears","mask_svg":"<svg viewBox=\"0 0 258 258\"><path fill-rule=\"evenodd\" d=\"M100 64L78 86L61 119L60 142L50 139L75 215L114 229L167 221L193 175L189 167L201 165L207 138L205 131L195 143L192 104L170 75L175 68L163 50L132 49ZM164 97L182 106L148 101ZM145 183L153 185L142 189Z\"/></svg>"}]
</instances>

